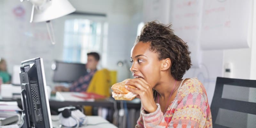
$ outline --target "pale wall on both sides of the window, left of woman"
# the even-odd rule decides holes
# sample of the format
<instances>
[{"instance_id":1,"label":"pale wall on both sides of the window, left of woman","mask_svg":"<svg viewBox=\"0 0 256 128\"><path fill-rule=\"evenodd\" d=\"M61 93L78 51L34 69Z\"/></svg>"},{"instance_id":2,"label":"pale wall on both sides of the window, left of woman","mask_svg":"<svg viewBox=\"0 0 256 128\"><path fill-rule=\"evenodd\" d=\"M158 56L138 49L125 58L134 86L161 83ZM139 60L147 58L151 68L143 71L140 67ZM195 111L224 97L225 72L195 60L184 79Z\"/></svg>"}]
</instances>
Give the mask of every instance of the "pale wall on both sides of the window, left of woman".
<instances>
[{"instance_id":1,"label":"pale wall on both sides of the window, left of woman","mask_svg":"<svg viewBox=\"0 0 256 128\"><path fill-rule=\"evenodd\" d=\"M137 26L141 22L142 0L69 0L78 12L106 14L108 22L108 51L106 68L118 71L118 81L127 78L128 70L118 67L119 60L130 60ZM20 6L25 10L21 17L13 9ZM52 83L51 64L62 60L65 17L52 20L56 44L52 45L45 23L29 23L32 5L28 1L0 1L0 57L7 60L11 73L14 65L23 60L42 57L46 83ZM137 24L136 24L137 23Z\"/></svg>"}]
</instances>

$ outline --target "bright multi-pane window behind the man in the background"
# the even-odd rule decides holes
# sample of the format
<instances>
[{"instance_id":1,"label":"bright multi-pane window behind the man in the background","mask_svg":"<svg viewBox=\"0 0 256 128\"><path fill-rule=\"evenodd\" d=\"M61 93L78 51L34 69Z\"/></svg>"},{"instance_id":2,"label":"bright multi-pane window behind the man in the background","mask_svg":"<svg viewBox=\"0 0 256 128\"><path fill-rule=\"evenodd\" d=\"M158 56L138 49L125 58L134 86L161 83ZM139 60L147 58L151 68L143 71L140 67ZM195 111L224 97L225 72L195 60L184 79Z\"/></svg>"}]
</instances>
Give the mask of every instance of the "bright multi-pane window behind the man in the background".
<instances>
[{"instance_id":1,"label":"bright multi-pane window behind the man in the background","mask_svg":"<svg viewBox=\"0 0 256 128\"><path fill-rule=\"evenodd\" d=\"M107 25L89 19L65 20L63 61L86 63L88 52L104 54L102 46L107 43Z\"/></svg>"}]
</instances>

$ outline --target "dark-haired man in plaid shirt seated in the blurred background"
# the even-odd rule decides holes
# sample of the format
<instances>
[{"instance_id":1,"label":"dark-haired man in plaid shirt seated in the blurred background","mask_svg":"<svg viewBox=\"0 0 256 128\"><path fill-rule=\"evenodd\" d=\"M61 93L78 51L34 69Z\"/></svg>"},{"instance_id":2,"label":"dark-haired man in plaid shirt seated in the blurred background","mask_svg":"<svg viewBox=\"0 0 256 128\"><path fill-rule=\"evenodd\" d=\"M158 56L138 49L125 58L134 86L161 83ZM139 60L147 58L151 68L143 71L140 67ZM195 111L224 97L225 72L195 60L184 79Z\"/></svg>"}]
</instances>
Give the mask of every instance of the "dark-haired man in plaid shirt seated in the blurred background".
<instances>
[{"instance_id":1,"label":"dark-haired man in plaid shirt seated in the blurred background","mask_svg":"<svg viewBox=\"0 0 256 128\"><path fill-rule=\"evenodd\" d=\"M97 71L99 60L100 55L97 52L87 53L86 74L74 81L70 87L56 86L55 90L59 92L86 92L93 75Z\"/></svg>"}]
</instances>

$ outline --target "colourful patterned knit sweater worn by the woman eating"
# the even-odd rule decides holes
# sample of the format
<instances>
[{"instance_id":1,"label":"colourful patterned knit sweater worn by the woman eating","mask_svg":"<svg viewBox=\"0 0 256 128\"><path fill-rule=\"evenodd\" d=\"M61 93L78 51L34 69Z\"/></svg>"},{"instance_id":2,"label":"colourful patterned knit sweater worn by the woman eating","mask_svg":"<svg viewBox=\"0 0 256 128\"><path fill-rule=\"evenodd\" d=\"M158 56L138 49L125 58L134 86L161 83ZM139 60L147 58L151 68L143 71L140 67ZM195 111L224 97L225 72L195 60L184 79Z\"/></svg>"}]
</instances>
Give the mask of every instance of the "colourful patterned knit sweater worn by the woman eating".
<instances>
[{"instance_id":1,"label":"colourful patterned knit sweater worn by the woman eating","mask_svg":"<svg viewBox=\"0 0 256 128\"><path fill-rule=\"evenodd\" d=\"M179 101L174 103L177 104L178 102ZM147 114L144 110L141 111L141 116L137 121L136 128L204 127L204 124L206 124L206 102L201 93L189 94L179 103L176 109L168 110L170 116L172 115L172 117L168 119L168 124L164 119L160 105L157 104L158 107L153 113ZM140 124L140 122L143 124Z\"/></svg>"}]
</instances>

